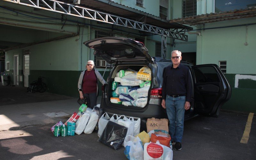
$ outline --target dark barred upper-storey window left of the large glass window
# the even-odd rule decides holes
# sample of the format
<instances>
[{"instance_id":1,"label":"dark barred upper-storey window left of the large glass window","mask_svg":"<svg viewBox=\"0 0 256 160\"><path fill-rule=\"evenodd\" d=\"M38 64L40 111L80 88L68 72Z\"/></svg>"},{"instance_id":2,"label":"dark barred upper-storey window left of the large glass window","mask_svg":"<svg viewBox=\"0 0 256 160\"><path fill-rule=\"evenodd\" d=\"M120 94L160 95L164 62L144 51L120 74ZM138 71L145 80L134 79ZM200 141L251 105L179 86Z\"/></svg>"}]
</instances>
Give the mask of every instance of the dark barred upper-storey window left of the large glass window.
<instances>
[{"instance_id":1,"label":"dark barred upper-storey window left of the large glass window","mask_svg":"<svg viewBox=\"0 0 256 160\"><path fill-rule=\"evenodd\" d=\"M196 0L182 0L182 17L196 15Z\"/></svg>"}]
</instances>

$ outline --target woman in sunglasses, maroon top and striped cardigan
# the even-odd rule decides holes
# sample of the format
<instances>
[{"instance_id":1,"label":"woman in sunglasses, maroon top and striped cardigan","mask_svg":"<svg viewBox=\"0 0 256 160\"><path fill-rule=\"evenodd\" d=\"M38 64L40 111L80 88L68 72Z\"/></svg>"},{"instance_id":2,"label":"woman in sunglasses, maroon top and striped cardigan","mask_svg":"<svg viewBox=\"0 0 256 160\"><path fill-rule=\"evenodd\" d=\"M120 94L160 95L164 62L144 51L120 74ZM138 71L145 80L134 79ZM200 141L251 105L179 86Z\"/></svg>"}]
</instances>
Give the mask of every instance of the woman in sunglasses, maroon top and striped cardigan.
<instances>
[{"instance_id":1,"label":"woman in sunglasses, maroon top and striped cardigan","mask_svg":"<svg viewBox=\"0 0 256 160\"><path fill-rule=\"evenodd\" d=\"M86 64L86 69L80 74L78 80L78 91L80 94L80 99L84 97L88 100L87 107L93 108L96 106L97 97L99 95L99 81L104 85L106 81L100 75L98 70L94 69L94 62L88 60Z\"/></svg>"}]
</instances>

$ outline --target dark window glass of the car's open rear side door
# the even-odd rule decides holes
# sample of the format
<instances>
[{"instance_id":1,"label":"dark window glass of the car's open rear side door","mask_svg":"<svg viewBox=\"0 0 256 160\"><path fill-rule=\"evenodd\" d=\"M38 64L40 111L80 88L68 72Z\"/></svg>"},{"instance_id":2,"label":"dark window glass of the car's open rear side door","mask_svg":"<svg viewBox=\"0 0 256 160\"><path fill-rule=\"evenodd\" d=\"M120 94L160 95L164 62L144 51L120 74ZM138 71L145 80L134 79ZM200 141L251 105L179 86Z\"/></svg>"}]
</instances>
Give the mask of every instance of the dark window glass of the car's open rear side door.
<instances>
[{"instance_id":1,"label":"dark window glass of the car's open rear side door","mask_svg":"<svg viewBox=\"0 0 256 160\"><path fill-rule=\"evenodd\" d=\"M218 73L212 66L195 67L194 74L196 83L220 82Z\"/></svg>"}]
</instances>

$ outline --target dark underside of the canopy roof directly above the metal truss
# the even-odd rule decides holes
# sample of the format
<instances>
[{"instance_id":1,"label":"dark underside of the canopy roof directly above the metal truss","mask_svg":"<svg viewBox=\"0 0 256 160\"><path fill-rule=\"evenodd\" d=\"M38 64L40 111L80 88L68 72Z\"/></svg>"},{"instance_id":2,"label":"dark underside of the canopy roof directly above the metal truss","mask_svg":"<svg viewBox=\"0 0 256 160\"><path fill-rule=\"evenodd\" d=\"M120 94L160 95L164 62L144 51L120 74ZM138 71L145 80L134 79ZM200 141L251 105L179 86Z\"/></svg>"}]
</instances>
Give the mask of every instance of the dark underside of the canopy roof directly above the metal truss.
<instances>
[{"instance_id":1,"label":"dark underside of the canopy roof directly above the metal truss","mask_svg":"<svg viewBox=\"0 0 256 160\"><path fill-rule=\"evenodd\" d=\"M80 5L164 29L193 29L109 0L81 0Z\"/></svg>"}]
</instances>

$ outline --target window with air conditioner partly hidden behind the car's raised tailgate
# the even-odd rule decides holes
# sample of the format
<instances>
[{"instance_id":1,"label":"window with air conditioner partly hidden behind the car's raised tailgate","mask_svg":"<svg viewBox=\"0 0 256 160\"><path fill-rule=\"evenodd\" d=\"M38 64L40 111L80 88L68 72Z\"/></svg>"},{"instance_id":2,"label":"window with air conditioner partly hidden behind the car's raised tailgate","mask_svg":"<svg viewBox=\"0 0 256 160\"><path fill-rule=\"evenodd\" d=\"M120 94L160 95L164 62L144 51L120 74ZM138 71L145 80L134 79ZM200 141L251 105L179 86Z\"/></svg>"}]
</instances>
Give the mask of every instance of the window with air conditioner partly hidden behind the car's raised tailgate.
<instances>
[{"instance_id":1,"label":"window with air conditioner partly hidden behind the car's raised tailgate","mask_svg":"<svg viewBox=\"0 0 256 160\"><path fill-rule=\"evenodd\" d=\"M101 37L112 37L114 34L102 32L102 31L95 31L95 38L101 38ZM108 64L103 58L100 56L94 56L94 64L96 67L106 67Z\"/></svg>"}]
</instances>

